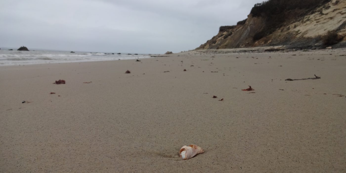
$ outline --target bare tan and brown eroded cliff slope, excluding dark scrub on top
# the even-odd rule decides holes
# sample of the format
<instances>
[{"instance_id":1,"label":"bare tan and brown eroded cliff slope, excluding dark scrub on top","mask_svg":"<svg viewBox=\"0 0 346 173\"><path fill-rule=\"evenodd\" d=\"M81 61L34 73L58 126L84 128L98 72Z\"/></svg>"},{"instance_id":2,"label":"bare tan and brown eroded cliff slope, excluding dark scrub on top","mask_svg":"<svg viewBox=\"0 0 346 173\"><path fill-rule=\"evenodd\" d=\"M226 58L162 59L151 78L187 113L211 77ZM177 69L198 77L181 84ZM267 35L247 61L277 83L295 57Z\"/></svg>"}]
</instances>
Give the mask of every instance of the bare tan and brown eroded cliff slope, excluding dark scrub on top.
<instances>
[{"instance_id":1,"label":"bare tan and brown eroded cliff slope, excluding dark scrub on top","mask_svg":"<svg viewBox=\"0 0 346 173\"><path fill-rule=\"evenodd\" d=\"M219 33L196 49L225 49L285 45L287 48L323 48L325 38L337 34L338 45L346 45L346 1L332 0L304 16L286 21L271 34L256 38L268 28L264 17L251 14L245 23L221 29ZM254 38L255 37L255 38Z\"/></svg>"}]
</instances>

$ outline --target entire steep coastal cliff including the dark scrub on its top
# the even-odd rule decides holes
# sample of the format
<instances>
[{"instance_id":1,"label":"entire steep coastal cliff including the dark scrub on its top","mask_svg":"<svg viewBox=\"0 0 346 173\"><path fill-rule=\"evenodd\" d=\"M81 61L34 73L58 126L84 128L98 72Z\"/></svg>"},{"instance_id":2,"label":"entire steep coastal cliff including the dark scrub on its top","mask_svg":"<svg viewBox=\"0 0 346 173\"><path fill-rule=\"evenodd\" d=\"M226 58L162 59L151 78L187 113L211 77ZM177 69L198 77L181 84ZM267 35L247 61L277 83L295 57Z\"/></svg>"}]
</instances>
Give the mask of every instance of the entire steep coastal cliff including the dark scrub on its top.
<instances>
[{"instance_id":1,"label":"entire steep coastal cliff including the dark scrub on its top","mask_svg":"<svg viewBox=\"0 0 346 173\"><path fill-rule=\"evenodd\" d=\"M221 26L196 49L345 47L345 36L345 0L269 0L255 4L237 25Z\"/></svg>"}]
</instances>

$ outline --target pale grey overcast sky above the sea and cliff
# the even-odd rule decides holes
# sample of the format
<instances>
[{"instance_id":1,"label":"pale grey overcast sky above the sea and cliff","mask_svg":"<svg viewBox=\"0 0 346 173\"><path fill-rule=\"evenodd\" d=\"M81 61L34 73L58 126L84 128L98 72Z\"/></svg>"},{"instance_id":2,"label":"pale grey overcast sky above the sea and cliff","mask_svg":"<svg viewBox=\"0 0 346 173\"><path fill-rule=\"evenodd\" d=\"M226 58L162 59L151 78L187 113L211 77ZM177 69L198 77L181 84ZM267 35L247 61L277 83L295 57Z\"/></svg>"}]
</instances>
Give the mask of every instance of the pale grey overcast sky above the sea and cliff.
<instances>
[{"instance_id":1,"label":"pale grey overcast sky above the sea and cliff","mask_svg":"<svg viewBox=\"0 0 346 173\"><path fill-rule=\"evenodd\" d=\"M0 47L174 53L199 47L263 0L0 0Z\"/></svg>"}]
</instances>

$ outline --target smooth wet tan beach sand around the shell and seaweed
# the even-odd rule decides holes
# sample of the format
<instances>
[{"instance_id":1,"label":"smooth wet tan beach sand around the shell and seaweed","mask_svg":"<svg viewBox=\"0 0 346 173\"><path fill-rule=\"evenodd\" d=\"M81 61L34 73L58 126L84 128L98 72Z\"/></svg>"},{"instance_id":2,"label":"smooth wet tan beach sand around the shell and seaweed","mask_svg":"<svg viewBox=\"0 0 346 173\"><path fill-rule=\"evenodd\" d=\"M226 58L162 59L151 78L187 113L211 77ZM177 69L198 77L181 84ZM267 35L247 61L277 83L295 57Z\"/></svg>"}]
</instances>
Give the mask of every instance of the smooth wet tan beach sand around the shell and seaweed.
<instances>
[{"instance_id":1,"label":"smooth wet tan beach sand around the shell and seaweed","mask_svg":"<svg viewBox=\"0 0 346 173\"><path fill-rule=\"evenodd\" d=\"M345 55L2 66L0 172L346 172ZM190 144L206 152L181 160Z\"/></svg>"}]
</instances>

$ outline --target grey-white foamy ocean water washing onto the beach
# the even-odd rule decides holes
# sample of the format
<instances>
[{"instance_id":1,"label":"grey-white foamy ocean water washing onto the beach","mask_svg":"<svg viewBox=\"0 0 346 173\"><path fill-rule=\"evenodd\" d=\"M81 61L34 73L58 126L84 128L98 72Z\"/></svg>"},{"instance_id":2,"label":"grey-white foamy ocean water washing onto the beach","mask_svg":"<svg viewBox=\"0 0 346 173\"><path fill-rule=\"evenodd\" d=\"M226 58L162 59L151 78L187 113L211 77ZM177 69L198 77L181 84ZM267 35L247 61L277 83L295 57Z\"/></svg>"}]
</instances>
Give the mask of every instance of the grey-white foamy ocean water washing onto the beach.
<instances>
[{"instance_id":1,"label":"grey-white foamy ocean water washing onto the beach","mask_svg":"<svg viewBox=\"0 0 346 173\"><path fill-rule=\"evenodd\" d=\"M8 48L0 49L0 66L27 65L27 64L48 64L48 63L70 63L70 62L90 62L90 61L112 61L130 60L137 58L149 58L149 55L127 55L117 53L96 53L96 52L75 52L70 51L12 51Z\"/></svg>"}]
</instances>

